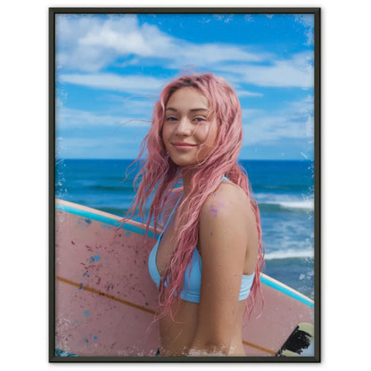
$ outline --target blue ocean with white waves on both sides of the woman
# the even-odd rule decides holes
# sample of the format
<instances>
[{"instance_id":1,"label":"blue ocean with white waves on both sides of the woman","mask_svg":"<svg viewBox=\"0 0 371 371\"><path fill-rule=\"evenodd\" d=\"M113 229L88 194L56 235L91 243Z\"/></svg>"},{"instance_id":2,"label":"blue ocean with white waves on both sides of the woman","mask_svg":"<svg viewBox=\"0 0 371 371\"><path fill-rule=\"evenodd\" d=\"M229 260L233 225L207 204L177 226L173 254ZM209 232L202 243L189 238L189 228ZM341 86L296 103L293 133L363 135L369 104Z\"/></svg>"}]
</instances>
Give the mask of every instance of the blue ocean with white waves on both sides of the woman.
<instances>
[{"instance_id":1,"label":"blue ocean with white waves on both sides of the woman","mask_svg":"<svg viewBox=\"0 0 371 371\"><path fill-rule=\"evenodd\" d=\"M124 216L134 197L131 160L58 160L55 196ZM263 273L314 299L314 164L240 161L260 207Z\"/></svg>"}]
</instances>

